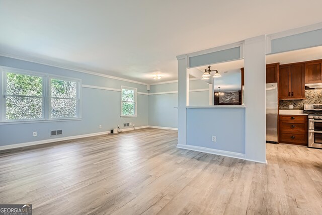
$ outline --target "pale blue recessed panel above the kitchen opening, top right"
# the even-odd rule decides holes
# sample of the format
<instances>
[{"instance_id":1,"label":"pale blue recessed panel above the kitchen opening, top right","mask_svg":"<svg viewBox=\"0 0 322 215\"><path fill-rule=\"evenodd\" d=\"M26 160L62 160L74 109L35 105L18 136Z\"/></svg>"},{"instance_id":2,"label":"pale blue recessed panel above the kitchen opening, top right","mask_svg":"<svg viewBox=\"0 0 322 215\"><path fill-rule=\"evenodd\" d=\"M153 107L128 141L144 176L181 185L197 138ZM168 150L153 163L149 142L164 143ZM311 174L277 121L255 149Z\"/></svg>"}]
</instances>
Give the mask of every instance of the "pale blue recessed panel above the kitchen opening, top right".
<instances>
[{"instance_id":1,"label":"pale blue recessed panel above the kitchen opening, top right","mask_svg":"<svg viewBox=\"0 0 322 215\"><path fill-rule=\"evenodd\" d=\"M322 45L322 29L271 40L271 53Z\"/></svg>"}]
</instances>

